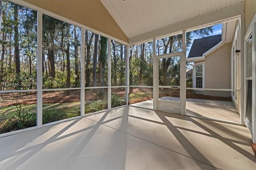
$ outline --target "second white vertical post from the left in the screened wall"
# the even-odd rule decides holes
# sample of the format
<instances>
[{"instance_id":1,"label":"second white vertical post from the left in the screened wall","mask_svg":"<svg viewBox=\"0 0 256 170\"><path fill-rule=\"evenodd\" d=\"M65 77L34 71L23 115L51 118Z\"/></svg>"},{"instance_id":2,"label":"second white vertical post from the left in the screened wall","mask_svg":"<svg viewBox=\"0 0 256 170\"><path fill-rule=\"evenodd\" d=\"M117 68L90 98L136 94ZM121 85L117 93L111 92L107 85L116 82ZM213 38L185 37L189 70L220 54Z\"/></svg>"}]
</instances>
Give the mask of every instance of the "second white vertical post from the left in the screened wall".
<instances>
[{"instance_id":1,"label":"second white vertical post from the left in the screened wall","mask_svg":"<svg viewBox=\"0 0 256 170\"><path fill-rule=\"evenodd\" d=\"M85 55L84 55L84 48L85 48L85 29L81 28L81 50L80 50L80 80L81 80L81 84L80 84L80 104L81 104L81 110L80 110L80 115L84 116L85 115L85 90L84 90L84 85L85 85L85 80L84 80L84 64L85 64Z\"/></svg>"}]
</instances>

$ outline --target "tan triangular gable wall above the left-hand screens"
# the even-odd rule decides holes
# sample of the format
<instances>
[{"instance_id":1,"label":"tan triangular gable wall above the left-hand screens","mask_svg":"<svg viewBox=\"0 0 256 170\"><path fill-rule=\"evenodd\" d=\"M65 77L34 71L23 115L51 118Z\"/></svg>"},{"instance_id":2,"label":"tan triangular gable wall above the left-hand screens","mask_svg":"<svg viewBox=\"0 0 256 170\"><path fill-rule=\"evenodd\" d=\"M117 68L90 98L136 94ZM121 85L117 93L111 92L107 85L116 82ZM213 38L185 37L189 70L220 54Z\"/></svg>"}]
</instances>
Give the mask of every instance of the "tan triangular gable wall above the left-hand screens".
<instances>
[{"instance_id":1,"label":"tan triangular gable wall above the left-hand screens","mask_svg":"<svg viewBox=\"0 0 256 170\"><path fill-rule=\"evenodd\" d=\"M100 0L24 0L30 4L128 42Z\"/></svg>"}]
</instances>

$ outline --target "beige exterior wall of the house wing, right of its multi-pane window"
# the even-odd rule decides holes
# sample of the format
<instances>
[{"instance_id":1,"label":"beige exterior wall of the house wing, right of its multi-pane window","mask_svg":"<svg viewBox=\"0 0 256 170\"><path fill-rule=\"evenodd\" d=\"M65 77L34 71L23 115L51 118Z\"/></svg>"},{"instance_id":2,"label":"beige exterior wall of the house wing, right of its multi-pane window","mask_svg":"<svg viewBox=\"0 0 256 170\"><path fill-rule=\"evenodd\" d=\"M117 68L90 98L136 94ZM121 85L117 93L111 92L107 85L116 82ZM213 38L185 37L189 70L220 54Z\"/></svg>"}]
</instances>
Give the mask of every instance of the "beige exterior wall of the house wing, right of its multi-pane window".
<instances>
[{"instance_id":1,"label":"beige exterior wall of the house wing, right of its multi-pane window","mask_svg":"<svg viewBox=\"0 0 256 170\"><path fill-rule=\"evenodd\" d=\"M231 43L225 43L221 47L206 55L204 63L204 88L231 88ZM209 96L230 97L226 91L198 91L198 94Z\"/></svg>"}]
</instances>

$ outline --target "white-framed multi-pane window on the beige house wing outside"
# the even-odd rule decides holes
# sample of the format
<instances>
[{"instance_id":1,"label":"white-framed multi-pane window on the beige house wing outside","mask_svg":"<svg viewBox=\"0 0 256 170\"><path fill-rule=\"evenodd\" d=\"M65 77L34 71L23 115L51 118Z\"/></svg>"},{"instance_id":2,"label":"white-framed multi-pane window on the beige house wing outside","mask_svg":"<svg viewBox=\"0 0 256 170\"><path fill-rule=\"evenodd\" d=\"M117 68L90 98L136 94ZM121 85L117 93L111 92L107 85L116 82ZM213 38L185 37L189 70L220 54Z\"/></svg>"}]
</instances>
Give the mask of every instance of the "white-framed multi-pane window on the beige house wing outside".
<instances>
[{"instance_id":1,"label":"white-framed multi-pane window on the beige house wing outside","mask_svg":"<svg viewBox=\"0 0 256 170\"><path fill-rule=\"evenodd\" d=\"M204 88L204 62L194 64L193 86Z\"/></svg>"}]
</instances>

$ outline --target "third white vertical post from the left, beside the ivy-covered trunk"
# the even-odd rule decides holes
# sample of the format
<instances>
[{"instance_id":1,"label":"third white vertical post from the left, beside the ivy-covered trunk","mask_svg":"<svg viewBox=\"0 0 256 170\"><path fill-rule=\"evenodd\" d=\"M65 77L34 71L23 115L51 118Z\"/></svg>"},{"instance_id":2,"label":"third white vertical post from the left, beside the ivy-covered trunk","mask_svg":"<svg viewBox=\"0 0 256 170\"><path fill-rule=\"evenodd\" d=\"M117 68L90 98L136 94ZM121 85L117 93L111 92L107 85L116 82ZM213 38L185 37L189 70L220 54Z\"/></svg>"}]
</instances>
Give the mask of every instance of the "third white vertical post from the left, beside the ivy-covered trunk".
<instances>
[{"instance_id":1,"label":"third white vertical post from the left, beside the ivy-covered trunk","mask_svg":"<svg viewBox=\"0 0 256 170\"><path fill-rule=\"evenodd\" d=\"M108 38L108 109L111 109L111 39Z\"/></svg>"}]
</instances>

